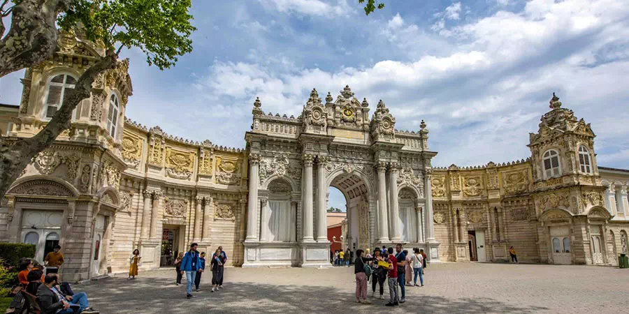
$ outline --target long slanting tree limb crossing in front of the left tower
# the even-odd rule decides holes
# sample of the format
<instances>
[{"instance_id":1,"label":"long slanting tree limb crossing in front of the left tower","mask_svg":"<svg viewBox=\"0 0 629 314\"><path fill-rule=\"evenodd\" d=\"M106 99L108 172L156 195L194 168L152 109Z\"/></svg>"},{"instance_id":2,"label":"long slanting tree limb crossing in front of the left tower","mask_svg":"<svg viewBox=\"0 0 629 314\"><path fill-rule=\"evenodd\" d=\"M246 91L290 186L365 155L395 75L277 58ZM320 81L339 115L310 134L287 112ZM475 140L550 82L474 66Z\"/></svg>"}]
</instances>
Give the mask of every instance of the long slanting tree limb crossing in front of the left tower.
<instances>
[{"instance_id":1,"label":"long slanting tree limb crossing in front of the left tower","mask_svg":"<svg viewBox=\"0 0 629 314\"><path fill-rule=\"evenodd\" d=\"M83 99L89 98L96 76L105 70L115 68L116 59L117 56L113 52L108 52L107 57L88 68L55 116L34 137L17 139L0 137L0 200L31 160L50 147L59 134L70 128L72 111Z\"/></svg>"}]
</instances>

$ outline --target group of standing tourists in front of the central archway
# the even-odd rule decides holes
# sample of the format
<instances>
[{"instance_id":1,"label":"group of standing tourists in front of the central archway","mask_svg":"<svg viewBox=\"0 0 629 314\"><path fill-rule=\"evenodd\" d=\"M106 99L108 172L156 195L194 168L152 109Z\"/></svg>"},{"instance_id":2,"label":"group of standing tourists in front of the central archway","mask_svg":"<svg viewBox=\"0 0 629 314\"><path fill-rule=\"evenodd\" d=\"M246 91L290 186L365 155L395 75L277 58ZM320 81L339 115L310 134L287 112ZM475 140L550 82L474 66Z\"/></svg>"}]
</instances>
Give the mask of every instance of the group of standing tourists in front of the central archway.
<instances>
[{"instance_id":1,"label":"group of standing tourists in front of the central archway","mask_svg":"<svg viewBox=\"0 0 629 314\"><path fill-rule=\"evenodd\" d=\"M363 253L366 253L363 256ZM406 301L406 286L424 287L424 269L426 253L413 248L412 255L397 244L393 248L382 246L375 248L373 255L369 249L356 251L354 275L356 276L356 302L370 304L367 299L367 284L371 281L371 297L374 297L376 285L379 285L380 299L384 299L384 281L389 286L389 303L386 306L398 306ZM419 277L419 285L417 278ZM398 290L400 293L398 293Z\"/></svg>"}]
</instances>

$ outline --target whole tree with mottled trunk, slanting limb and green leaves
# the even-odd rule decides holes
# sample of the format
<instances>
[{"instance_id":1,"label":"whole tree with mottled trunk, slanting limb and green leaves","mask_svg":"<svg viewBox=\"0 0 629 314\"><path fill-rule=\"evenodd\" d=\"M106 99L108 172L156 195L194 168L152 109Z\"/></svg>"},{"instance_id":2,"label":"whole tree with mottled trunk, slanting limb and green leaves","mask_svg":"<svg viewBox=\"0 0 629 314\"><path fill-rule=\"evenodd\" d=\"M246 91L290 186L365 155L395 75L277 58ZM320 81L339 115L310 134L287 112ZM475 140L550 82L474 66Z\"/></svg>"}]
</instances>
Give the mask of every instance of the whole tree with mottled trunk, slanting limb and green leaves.
<instances>
[{"instance_id":1,"label":"whole tree with mottled trunk, slanting limb and green leaves","mask_svg":"<svg viewBox=\"0 0 629 314\"><path fill-rule=\"evenodd\" d=\"M89 62L75 88L50 122L34 137L0 136L0 199L38 153L71 126L71 114L99 74L114 69L122 48L136 47L147 63L169 68L192 51L191 0L0 0L10 29L0 39L0 77L41 63L55 54L59 30L81 29L106 48L105 57ZM6 30L0 21L0 33Z\"/></svg>"}]
</instances>

